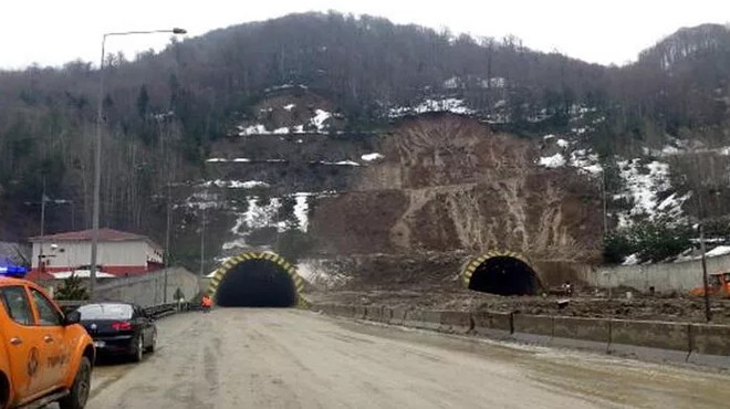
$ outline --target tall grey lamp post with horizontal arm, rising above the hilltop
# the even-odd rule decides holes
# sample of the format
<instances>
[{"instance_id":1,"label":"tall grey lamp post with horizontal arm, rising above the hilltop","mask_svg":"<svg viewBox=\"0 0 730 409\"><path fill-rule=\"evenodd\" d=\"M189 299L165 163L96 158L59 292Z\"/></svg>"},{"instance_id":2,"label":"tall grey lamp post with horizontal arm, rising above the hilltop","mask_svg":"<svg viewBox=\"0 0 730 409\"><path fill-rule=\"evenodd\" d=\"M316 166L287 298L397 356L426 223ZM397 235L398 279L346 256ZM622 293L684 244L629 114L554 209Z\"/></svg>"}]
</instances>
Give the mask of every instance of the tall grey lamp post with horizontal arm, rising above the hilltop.
<instances>
[{"instance_id":1,"label":"tall grey lamp post with horizontal arm, rising above the hilltop","mask_svg":"<svg viewBox=\"0 0 730 409\"><path fill-rule=\"evenodd\" d=\"M186 34L184 29L171 30L149 30L149 31L124 31L105 33L102 36L102 60L98 65L98 101L96 102L96 149L94 149L94 198L92 209L92 248L91 248L91 272L88 276L90 298L94 300L94 285L96 282L96 256L98 250L98 212L100 212L100 192L102 185L102 120L104 115L104 56L107 36L137 35L137 34L157 34L173 33Z\"/></svg>"}]
</instances>

